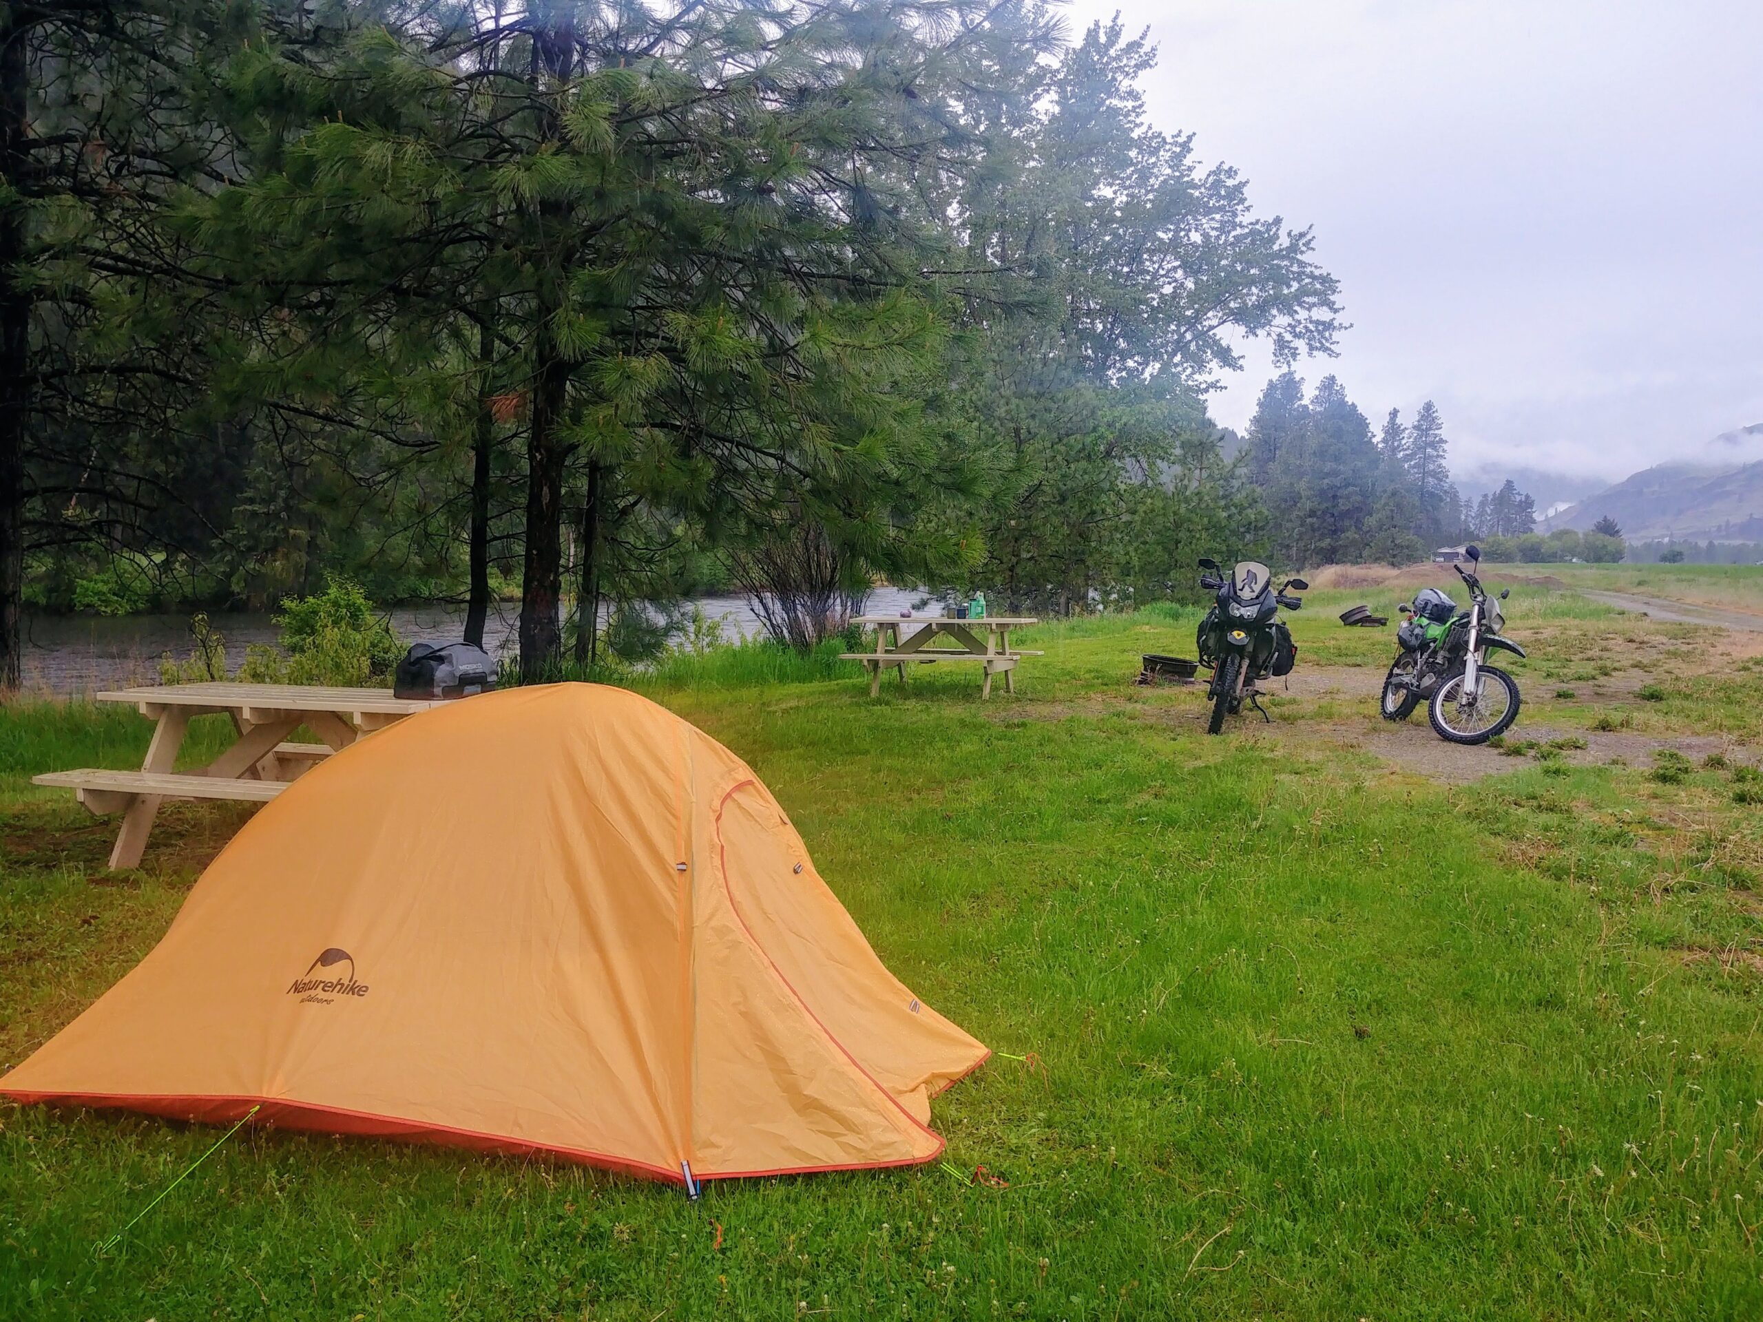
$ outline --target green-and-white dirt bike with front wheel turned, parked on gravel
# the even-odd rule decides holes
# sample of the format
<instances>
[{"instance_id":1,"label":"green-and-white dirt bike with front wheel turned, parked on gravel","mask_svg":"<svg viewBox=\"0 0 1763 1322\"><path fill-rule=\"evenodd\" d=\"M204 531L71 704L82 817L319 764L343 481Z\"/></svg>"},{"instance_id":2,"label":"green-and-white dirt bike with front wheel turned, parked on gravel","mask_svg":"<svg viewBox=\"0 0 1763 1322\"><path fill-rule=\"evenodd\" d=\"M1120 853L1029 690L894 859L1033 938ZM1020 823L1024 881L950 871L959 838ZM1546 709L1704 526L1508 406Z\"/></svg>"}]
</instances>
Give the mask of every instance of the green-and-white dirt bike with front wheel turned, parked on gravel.
<instances>
[{"instance_id":1,"label":"green-and-white dirt bike with front wheel turned, parked on gravel","mask_svg":"<svg viewBox=\"0 0 1763 1322\"><path fill-rule=\"evenodd\" d=\"M1472 564L1481 550L1465 548ZM1502 638L1506 613L1500 610L1511 589L1490 598L1474 571L1456 566L1469 587L1469 610L1458 610L1437 587L1423 587L1414 605L1398 610L1407 622L1396 629L1396 654L1384 677L1382 710L1386 721L1407 721L1426 702L1426 716L1439 739L1451 744L1486 744L1518 719L1518 682L1486 663L1490 649L1523 656L1525 649Z\"/></svg>"}]
</instances>

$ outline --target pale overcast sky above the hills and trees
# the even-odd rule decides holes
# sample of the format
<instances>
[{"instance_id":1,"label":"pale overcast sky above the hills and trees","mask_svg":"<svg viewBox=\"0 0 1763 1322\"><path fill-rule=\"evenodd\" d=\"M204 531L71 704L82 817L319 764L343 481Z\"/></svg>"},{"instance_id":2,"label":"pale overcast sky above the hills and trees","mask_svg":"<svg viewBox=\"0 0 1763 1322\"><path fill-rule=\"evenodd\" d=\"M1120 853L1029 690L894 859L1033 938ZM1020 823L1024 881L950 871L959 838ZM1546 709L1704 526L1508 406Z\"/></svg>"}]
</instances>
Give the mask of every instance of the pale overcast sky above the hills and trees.
<instances>
[{"instance_id":1,"label":"pale overcast sky above the hills and trees","mask_svg":"<svg viewBox=\"0 0 1763 1322\"><path fill-rule=\"evenodd\" d=\"M1072 35L1116 9L1151 120L1315 227L1354 328L1308 381L1437 400L1460 472L1624 478L1763 423L1763 0L1075 0Z\"/></svg>"}]
</instances>

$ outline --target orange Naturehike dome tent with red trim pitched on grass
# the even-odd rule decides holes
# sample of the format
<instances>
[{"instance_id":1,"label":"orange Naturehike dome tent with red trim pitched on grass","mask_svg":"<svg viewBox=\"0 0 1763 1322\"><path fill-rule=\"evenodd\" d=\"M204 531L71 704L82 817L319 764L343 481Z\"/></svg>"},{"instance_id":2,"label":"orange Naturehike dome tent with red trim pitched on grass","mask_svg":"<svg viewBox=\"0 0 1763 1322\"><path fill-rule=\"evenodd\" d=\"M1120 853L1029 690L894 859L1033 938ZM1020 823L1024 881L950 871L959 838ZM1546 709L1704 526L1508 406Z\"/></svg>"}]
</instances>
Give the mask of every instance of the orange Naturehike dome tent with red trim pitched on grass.
<instances>
[{"instance_id":1,"label":"orange Naturehike dome tent with red trim pitched on grass","mask_svg":"<svg viewBox=\"0 0 1763 1322\"><path fill-rule=\"evenodd\" d=\"M689 1186L929 1162L929 1098L986 1056L882 966L739 758L557 684L301 776L0 1093Z\"/></svg>"}]
</instances>

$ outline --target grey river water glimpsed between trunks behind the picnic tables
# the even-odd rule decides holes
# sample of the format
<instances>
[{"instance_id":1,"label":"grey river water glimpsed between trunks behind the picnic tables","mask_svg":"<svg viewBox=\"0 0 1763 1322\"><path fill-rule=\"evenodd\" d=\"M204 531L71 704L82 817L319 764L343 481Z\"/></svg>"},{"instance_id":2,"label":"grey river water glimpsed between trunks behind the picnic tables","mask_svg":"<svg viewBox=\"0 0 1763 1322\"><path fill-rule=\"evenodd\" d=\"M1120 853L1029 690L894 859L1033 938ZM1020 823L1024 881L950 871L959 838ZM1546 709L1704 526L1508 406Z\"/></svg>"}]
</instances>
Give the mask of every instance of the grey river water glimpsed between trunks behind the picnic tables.
<instances>
[{"instance_id":1,"label":"grey river water glimpsed between trunks behind the picnic tables","mask_svg":"<svg viewBox=\"0 0 1763 1322\"><path fill-rule=\"evenodd\" d=\"M920 610L922 589L878 587L869 594L867 610L899 613ZM749 638L765 629L746 598L698 598L703 613L723 622L723 633ZM485 622L483 645L490 656L513 654L518 605L495 603ZM393 631L409 643L458 642L465 628L464 608L398 606L390 612ZM215 613L210 624L226 638L227 668L245 661L250 643L277 642L277 628L268 615ZM171 652L187 657L194 642L189 615L26 615L23 679L26 693L72 696L127 684L157 684L159 659Z\"/></svg>"}]
</instances>

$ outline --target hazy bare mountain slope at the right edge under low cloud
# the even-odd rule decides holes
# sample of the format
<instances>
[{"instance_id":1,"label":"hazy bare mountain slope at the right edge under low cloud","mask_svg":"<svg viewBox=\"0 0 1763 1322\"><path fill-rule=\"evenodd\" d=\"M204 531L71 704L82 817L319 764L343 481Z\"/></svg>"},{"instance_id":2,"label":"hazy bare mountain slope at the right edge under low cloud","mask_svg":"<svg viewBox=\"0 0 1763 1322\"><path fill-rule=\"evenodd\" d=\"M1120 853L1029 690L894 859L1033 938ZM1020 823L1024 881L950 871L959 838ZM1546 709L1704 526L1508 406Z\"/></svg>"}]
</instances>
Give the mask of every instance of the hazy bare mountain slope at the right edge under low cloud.
<instances>
[{"instance_id":1,"label":"hazy bare mountain slope at the right edge under low cloud","mask_svg":"<svg viewBox=\"0 0 1763 1322\"><path fill-rule=\"evenodd\" d=\"M1715 437L1705 453L1756 453L1763 423ZM1749 455L1745 455L1749 458ZM1763 458L1659 464L1564 509L1553 527L1585 531L1610 515L1629 541L1763 541ZM1539 502L1541 504L1541 502Z\"/></svg>"}]
</instances>

